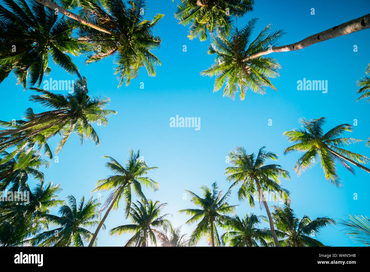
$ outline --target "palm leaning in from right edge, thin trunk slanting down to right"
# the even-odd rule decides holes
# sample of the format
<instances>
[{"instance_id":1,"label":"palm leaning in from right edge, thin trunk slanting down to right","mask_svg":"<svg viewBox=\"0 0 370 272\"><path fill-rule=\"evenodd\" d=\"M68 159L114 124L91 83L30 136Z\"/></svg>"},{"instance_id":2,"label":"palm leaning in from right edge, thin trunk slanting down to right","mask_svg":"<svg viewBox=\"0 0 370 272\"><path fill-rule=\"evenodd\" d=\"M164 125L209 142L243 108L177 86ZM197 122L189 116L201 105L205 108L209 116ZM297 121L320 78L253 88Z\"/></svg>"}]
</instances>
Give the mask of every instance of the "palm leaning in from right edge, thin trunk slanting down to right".
<instances>
[{"instance_id":1,"label":"palm leaning in from right edge, thin trunk slanting down to right","mask_svg":"<svg viewBox=\"0 0 370 272\"><path fill-rule=\"evenodd\" d=\"M325 117L311 120L302 118L300 119L300 123L303 129L300 128L284 132L288 141L294 143L291 147L285 148L284 155L293 151L306 152L298 159L294 167L297 175L300 175L307 168L311 168L316 164L319 157L326 180L332 182L332 184L337 187L341 186L341 183L335 167L336 161L340 162L340 164L352 174L354 174L354 170L348 162L370 173L369 168L359 164L367 163L369 158L342 148L344 145L361 141L354 138L340 137L343 132L352 132L352 126L349 124L341 124L324 133L323 125L325 122Z\"/></svg>"}]
</instances>

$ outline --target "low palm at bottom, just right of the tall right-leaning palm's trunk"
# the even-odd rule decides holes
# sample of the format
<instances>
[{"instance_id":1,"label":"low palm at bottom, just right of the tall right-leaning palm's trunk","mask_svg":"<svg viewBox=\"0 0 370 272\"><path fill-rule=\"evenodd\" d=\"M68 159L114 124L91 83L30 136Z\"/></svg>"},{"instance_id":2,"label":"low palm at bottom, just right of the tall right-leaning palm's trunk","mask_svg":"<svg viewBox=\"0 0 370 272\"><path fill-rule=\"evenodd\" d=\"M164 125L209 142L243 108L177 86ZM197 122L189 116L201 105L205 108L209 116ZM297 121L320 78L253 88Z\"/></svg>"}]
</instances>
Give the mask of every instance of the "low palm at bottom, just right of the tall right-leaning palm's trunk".
<instances>
[{"instance_id":1,"label":"low palm at bottom, just right of the tall right-leaning palm's trunk","mask_svg":"<svg viewBox=\"0 0 370 272\"><path fill-rule=\"evenodd\" d=\"M128 217L131 219L129 225L115 227L109 231L112 235L121 235L123 233L133 233L125 246L148 246L148 242L157 245L156 234L167 231L171 223L166 219L169 214L160 215L167 203L153 202L142 199L137 204L132 202Z\"/></svg>"}]
</instances>

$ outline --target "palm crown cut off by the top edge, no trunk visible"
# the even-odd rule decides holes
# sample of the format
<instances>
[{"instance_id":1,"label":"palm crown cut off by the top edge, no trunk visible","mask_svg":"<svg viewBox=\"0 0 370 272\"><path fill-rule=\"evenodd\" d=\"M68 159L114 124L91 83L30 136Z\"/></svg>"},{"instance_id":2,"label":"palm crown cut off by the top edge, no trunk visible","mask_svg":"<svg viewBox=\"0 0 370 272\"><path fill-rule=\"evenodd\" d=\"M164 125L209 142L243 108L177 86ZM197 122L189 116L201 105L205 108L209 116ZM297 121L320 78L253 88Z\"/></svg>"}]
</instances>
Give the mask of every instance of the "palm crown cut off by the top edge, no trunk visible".
<instances>
[{"instance_id":1,"label":"palm crown cut off by the top edge, no trunk visible","mask_svg":"<svg viewBox=\"0 0 370 272\"><path fill-rule=\"evenodd\" d=\"M172 0L173 1L173 0ZM182 0L177 5L175 17L184 26L192 24L188 37L192 40L207 39L207 30L215 29L229 33L232 20L230 16L243 17L253 11L254 0Z\"/></svg>"}]
</instances>

